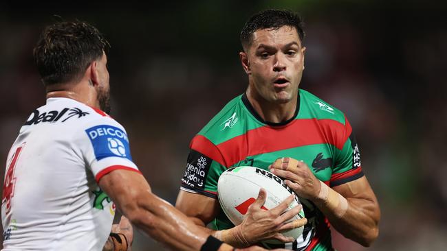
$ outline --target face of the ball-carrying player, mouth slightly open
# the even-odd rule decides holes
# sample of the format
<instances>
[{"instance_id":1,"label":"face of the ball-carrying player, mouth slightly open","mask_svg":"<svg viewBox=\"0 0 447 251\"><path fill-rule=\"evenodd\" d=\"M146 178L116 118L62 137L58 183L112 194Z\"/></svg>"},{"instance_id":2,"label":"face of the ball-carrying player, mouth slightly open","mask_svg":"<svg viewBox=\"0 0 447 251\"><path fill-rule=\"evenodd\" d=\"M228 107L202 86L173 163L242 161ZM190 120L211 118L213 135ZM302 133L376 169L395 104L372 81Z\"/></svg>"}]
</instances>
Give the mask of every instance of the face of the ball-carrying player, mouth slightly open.
<instances>
[{"instance_id":1,"label":"face of the ball-carrying player, mouth slightly open","mask_svg":"<svg viewBox=\"0 0 447 251\"><path fill-rule=\"evenodd\" d=\"M259 29L252 38L247 51L241 52L241 60L254 97L279 104L296 99L305 51L296 29L290 26Z\"/></svg>"}]
</instances>

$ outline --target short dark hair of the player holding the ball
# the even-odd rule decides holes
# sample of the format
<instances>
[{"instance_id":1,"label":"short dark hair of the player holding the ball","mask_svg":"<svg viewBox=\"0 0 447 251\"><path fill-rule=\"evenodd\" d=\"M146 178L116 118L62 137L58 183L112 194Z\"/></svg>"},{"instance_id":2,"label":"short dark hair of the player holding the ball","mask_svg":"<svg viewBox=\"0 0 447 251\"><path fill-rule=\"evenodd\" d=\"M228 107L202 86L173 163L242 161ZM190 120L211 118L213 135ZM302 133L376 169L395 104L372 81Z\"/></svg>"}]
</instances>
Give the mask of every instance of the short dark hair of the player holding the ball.
<instances>
[{"instance_id":1,"label":"short dark hair of the player holding the ball","mask_svg":"<svg viewBox=\"0 0 447 251\"><path fill-rule=\"evenodd\" d=\"M253 33L258 29L279 29L283 26L290 26L296 29L301 42L305 33L303 21L298 14L290 10L263 10L254 14L243 25L241 31L241 44L244 50L252 43Z\"/></svg>"}]
</instances>

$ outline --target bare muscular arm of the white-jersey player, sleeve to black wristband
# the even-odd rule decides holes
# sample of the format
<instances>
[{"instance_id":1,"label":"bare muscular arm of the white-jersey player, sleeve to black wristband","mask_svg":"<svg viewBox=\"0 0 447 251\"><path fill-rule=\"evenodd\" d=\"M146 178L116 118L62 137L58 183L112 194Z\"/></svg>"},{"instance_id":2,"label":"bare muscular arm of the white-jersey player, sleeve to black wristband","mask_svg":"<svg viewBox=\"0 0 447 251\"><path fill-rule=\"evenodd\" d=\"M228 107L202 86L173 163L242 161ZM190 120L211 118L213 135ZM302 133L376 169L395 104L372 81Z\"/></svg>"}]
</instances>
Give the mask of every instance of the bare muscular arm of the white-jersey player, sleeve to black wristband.
<instances>
[{"instance_id":1,"label":"bare muscular arm of the white-jersey player, sleeve to black wristband","mask_svg":"<svg viewBox=\"0 0 447 251\"><path fill-rule=\"evenodd\" d=\"M154 195L141 174L114 170L103 176L99 185L135 226L169 248L200 250L206 241L207 232Z\"/></svg>"}]
</instances>

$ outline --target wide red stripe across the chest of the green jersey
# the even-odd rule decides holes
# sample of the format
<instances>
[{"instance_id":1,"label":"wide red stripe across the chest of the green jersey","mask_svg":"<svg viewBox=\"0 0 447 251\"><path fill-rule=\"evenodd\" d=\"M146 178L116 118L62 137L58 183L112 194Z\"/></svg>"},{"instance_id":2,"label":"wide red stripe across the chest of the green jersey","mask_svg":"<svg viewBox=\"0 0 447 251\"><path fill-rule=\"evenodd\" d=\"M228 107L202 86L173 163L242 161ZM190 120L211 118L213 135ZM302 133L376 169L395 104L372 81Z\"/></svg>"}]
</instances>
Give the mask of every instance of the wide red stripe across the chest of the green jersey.
<instances>
[{"instance_id":1,"label":"wide red stripe across the chest of the green jersey","mask_svg":"<svg viewBox=\"0 0 447 251\"><path fill-rule=\"evenodd\" d=\"M215 152L219 152L219 156L225 156L223 162L227 164L226 167L230 167L247 156L304 145L328 143L342 150L351 134L349 128L350 125L347 128L333 119L296 119L283 127L265 125L250 130L220 143Z\"/></svg>"}]
</instances>

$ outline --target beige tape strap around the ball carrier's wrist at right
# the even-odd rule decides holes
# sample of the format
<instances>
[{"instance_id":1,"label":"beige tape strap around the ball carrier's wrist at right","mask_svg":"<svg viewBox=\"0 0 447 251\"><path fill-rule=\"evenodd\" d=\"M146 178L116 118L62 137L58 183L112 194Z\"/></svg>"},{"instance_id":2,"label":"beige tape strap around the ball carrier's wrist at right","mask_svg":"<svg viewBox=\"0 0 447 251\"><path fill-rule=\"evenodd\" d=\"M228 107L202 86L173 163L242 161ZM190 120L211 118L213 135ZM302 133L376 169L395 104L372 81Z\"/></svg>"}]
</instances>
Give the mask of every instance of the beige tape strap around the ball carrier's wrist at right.
<instances>
[{"instance_id":1,"label":"beige tape strap around the ball carrier's wrist at right","mask_svg":"<svg viewBox=\"0 0 447 251\"><path fill-rule=\"evenodd\" d=\"M323 200L325 206L327 206L336 217L343 217L349 206L346 198L334 191L334 189L328 187L324 182L320 181L320 184L321 188L320 193L318 194L318 199Z\"/></svg>"}]
</instances>

